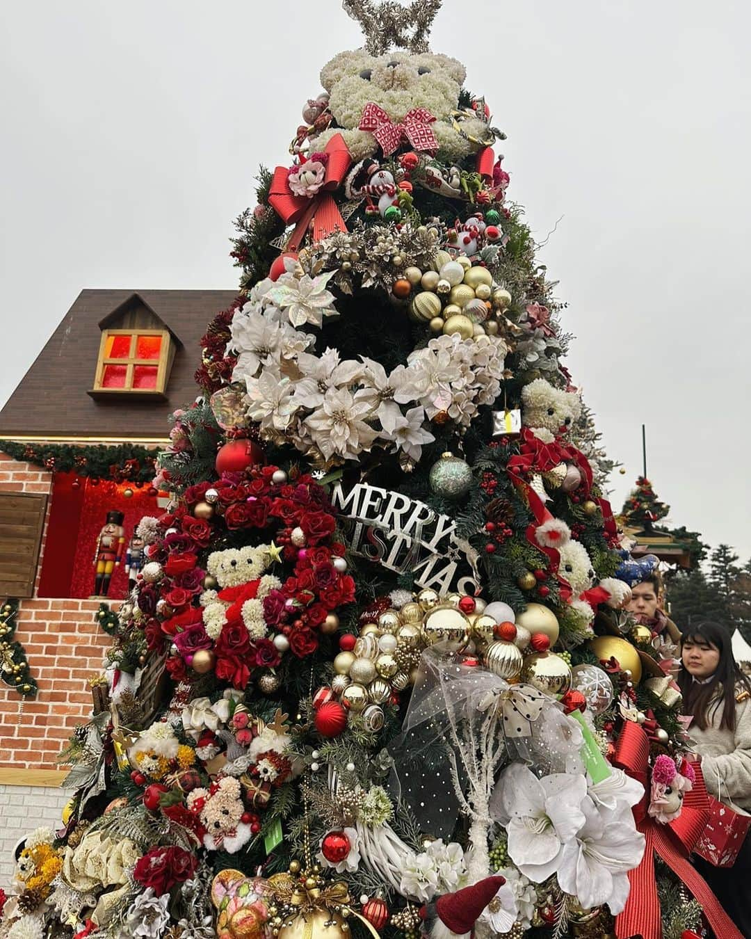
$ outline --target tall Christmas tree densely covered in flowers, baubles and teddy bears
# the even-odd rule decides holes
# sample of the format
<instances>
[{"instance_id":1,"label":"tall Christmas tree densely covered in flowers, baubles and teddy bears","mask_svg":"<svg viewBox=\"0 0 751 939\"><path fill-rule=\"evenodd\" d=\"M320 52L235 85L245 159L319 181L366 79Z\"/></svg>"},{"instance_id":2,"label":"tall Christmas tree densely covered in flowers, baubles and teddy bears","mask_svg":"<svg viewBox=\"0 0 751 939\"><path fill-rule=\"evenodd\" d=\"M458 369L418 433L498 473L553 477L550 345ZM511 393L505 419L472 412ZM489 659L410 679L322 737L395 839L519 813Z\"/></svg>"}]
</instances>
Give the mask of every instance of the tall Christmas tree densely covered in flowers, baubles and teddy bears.
<instances>
[{"instance_id":1,"label":"tall Christmas tree densely covered in flowers, baubles and teddy bears","mask_svg":"<svg viewBox=\"0 0 751 939\"><path fill-rule=\"evenodd\" d=\"M728 926L671 827L706 811L675 647L621 609L645 562L438 7L345 3L365 48L239 217L8 935L673 936L682 878Z\"/></svg>"}]
</instances>

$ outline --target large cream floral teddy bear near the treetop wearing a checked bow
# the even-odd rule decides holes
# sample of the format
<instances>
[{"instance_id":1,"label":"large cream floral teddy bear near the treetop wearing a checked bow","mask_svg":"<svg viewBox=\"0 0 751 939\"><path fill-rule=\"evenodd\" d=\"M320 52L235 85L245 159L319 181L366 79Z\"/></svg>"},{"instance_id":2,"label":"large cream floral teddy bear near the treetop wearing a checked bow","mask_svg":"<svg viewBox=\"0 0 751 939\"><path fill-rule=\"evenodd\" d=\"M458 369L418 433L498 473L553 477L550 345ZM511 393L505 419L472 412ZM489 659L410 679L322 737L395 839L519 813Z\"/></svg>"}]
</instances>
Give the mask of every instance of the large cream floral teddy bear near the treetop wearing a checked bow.
<instances>
[{"instance_id":1,"label":"large cream floral teddy bear near the treetop wearing a checked bow","mask_svg":"<svg viewBox=\"0 0 751 939\"><path fill-rule=\"evenodd\" d=\"M322 150L335 133L341 133L352 162L374 157L379 150L374 134L360 131L363 109L373 102L394 124L413 108L426 109L436 118L427 126L435 135L438 159L461 160L480 148L470 138L488 134L488 125L478 117L464 117L461 133L452 125L465 75L461 62L448 55L371 55L363 49L335 55L321 70L321 84L329 92L330 112L338 126L314 137L311 148Z\"/></svg>"}]
</instances>

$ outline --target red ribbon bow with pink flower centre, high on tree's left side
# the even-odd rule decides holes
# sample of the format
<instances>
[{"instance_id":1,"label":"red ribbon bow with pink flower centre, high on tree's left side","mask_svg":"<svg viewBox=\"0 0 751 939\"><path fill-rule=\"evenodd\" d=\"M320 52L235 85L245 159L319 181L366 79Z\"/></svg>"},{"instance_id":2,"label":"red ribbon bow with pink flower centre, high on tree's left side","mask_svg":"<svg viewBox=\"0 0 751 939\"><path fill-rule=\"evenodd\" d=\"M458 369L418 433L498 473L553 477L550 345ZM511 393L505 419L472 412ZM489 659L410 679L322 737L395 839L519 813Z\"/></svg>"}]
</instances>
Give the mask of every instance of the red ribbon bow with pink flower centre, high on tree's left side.
<instances>
[{"instance_id":1,"label":"red ribbon bow with pink flower centre, high on tree's left side","mask_svg":"<svg viewBox=\"0 0 751 939\"><path fill-rule=\"evenodd\" d=\"M331 192L342 185L346 171L352 163L345 138L341 133L335 133L331 137L324 153L329 156L326 163L326 176L323 186L312 199L304 195L295 195L292 192L287 181L289 170L286 166L277 166L274 170L268 192L268 202L286 224L297 223L292 237L287 242L288 251L299 250L311 221L313 221L313 237L316 241L326 238L337 229L346 231L345 220L331 195Z\"/></svg>"}]
</instances>

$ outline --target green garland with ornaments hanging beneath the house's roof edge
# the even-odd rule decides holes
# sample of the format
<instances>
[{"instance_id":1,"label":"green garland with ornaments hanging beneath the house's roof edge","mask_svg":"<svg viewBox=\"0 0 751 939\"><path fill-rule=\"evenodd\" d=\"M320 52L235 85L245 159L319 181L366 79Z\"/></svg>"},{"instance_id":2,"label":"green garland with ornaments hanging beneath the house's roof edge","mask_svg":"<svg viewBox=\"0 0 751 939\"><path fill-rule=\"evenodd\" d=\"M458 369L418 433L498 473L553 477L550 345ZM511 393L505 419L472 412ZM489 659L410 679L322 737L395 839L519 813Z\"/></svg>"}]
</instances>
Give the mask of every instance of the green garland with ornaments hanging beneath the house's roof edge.
<instances>
[{"instance_id":1,"label":"green garland with ornaments hanging beneath the house's roof edge","mask_svg":"<svg viewBox=\"0 0 751 939\"><path fill-rule=\"evenodd\" d=\"M0 440L0 450L14 460L33 463L50 472L75 472L87 479L113 483L150 483L156 473L157 452L130 443L79 447L69 443Z\"/></svg>"}]
</instances>

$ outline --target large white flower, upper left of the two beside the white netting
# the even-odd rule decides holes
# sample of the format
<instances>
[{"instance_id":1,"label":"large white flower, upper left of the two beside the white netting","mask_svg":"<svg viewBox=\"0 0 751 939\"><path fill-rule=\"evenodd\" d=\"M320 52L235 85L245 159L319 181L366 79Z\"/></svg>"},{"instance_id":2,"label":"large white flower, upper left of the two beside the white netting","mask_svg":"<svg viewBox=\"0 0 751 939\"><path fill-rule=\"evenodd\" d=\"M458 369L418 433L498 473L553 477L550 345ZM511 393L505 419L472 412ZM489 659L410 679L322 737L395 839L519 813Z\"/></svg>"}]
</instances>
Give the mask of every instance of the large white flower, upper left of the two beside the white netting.
<instances>
[{"instance_id":1,"label":"large white flower, upper left of the two beside the white netting","mask_svg":"<svg viewBox=\"0 0 751 939\"><path fill-rule=\"evenodd\" d=\"M509 856L529 880L540 884L558 870L563 846L586 821L581 804L587 779L568 773L538 779L526 766L512 763L499 784L509 816Z\"/></svg>"}]
</instances>

